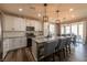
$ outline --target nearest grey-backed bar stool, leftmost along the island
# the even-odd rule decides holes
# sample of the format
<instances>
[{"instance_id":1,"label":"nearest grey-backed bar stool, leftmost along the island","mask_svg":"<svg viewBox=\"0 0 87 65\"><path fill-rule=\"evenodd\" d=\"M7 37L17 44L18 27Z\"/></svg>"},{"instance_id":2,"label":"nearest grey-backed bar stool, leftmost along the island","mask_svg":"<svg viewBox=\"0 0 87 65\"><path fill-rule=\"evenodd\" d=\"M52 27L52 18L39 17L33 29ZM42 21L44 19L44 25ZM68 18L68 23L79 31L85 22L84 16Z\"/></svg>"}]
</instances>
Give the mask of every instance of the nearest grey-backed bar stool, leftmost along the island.
<instances>
[{"instance_id":1,"label":"nearest grey-backed bar stool, leftmost along the island","mask_svg":"<svg viewBox=\"0 0 87 65\"><path fill-rule=\"evenodd\" d=\"M50 41L50 42L45 42L44 43L44 48L43 52L41 52L43 58L40 61L44 61L44 62L54 62L55 57L54 57L54 52L55 52L55 47L57 45L57 41Z\"/></svg>"}]
</instances>

